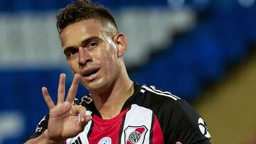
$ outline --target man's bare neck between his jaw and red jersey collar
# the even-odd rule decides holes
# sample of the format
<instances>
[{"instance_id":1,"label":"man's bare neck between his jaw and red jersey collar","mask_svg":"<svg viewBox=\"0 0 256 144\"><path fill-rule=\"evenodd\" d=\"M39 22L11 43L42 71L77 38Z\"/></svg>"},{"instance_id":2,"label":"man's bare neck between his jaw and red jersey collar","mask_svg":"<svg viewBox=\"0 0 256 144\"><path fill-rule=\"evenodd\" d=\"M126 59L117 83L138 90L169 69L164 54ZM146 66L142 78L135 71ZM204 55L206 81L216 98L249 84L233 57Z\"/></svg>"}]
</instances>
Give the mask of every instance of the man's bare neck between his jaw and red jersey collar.
<instances>
[{"instance_id":1,"label":"man's bare neck between his jaw and red jersey collar","mask_svg":"<svg viewBox=\"0 0 256 144\"><path fill-rule=\"evenodd\" d=\"M90 94L102 118L110 119L120 113L124 102L133 92L134 84L125 71L125 74L121 74L119 79L110 84L104 92L90 92Z\"/></svg>"}]
</instances>

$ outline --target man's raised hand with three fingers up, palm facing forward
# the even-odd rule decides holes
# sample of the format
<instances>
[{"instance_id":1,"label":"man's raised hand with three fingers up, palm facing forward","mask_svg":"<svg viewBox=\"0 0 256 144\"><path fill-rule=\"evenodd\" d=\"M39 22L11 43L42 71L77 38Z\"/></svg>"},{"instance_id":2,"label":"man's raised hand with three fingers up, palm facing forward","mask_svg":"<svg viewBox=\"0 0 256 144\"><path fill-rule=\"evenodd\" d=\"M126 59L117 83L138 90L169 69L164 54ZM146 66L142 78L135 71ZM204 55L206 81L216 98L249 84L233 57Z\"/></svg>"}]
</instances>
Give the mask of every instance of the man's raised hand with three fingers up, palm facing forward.
<instances>
[{"instance_id":1,"label":"man's raised hand with three fingers up, palm facing forward","mask_svg":"<svg viewBox=\"0 0 256 144\"><path fill-rule=\"evenodd\" d=\"M79 80L80 75L75 74L65 99L65 74L60 74L57 105L50 98L46 87L42 88L43 98L50 110L48 129L44 134L53 143L63 143L67 138L75 137L84 130L87 122L92 120L90 115L86 115L85 107L73 105Z\"/></svg>"}]
</instances>

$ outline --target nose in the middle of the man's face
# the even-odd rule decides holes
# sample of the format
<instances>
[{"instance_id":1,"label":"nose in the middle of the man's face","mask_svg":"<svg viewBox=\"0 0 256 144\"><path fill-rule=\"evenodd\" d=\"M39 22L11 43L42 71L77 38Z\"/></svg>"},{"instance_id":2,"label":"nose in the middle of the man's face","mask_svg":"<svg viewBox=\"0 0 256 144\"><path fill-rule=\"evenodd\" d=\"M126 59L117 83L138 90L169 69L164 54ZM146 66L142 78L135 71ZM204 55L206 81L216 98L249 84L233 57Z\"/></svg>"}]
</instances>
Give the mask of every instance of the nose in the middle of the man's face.
<instances>
[{"instance_id":1,"label":"nose in the middle of the man's face","mask_svg":"<svg viewBox=\"0 0 256 144\"><path fill-rule=\"evenodd\" d=\"M78 64L80 66L85 66L87 62L92 62L92 57L90 52L86 48L79 48L79 61Z\"/></svg>"}]
</instances>

